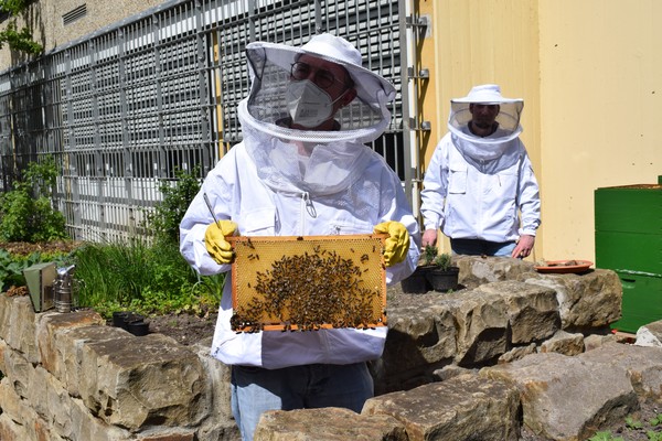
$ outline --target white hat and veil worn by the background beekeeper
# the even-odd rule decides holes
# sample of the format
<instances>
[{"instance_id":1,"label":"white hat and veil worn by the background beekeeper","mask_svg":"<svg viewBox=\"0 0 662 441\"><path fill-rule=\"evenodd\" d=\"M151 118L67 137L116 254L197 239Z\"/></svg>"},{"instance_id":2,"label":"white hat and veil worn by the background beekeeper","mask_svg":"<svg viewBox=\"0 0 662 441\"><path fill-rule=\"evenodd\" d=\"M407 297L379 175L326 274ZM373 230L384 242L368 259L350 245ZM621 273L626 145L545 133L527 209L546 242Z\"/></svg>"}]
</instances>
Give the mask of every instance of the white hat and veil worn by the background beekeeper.
<instances>
[{"instance_id":1,"label":"white hat and veil worn by the background beekeeper","mask_svg":"<svg viewBox=\"0 0 662 441\"><path fill-rule=\"evenodd\" d=\"M484 138L469 130L471 104L498 105L496 130ZM467 162L483 173L496 173L512 166L520 158L523 147L519 140L522 133L520 116L524 107L521 98L504 98L501 88L494 84L474 86L463 98L450 100L448 129L453 144Z\"/></svg>"}]
</instances>

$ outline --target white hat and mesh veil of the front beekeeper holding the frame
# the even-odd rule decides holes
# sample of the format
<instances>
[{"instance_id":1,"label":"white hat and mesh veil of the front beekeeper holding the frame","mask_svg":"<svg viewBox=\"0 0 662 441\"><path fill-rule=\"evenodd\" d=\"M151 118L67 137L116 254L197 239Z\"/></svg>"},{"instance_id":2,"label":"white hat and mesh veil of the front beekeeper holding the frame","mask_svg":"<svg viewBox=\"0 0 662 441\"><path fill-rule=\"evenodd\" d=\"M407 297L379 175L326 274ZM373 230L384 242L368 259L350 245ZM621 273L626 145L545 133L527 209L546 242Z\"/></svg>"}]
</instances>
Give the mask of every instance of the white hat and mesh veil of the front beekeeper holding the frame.
<instances>
[{"instance_id":1,"label":"white hat and mesh veil of the front beekeeper holding the frame","mask_svg":"<svg viewBox=\"0 0 662 441\"><path fill-rule=\"evenodd\" d=\"M291 66L303 54L344 67L356 97L335 114L335 130L290 128L287 90ZM314 35L301 47L255 42L246 46L252 87L238 107L244 142L267 185L279 191L333 194L363 173L372 151L364 146L391 122L391 83L362 66L361 53L331 34Z\"/></svg>"}]
</instances>

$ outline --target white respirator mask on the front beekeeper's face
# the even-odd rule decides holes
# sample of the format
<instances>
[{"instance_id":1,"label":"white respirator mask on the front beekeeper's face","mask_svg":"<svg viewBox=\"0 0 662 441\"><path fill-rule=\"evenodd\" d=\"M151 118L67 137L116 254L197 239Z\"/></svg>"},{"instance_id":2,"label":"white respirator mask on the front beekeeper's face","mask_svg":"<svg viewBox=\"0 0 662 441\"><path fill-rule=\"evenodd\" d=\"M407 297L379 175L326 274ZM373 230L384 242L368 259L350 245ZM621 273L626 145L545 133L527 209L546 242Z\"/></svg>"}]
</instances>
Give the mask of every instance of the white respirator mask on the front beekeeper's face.
<instances>
[{"instance_id":1,"label":"white respirator mask on the front beekeeper's face","mask_svg":"<svg viewBox=\"0 0 662 441\"><path fill-rule=\"evenodd\" d=\"M331 100L331 96L313 82L302 79L288 84L285 100L292 122L311 129L333 116L333 105L346 93L348 90Z\"/></svg>"}]
</instances>

